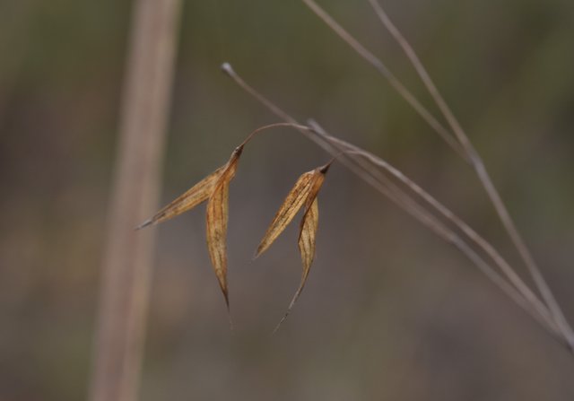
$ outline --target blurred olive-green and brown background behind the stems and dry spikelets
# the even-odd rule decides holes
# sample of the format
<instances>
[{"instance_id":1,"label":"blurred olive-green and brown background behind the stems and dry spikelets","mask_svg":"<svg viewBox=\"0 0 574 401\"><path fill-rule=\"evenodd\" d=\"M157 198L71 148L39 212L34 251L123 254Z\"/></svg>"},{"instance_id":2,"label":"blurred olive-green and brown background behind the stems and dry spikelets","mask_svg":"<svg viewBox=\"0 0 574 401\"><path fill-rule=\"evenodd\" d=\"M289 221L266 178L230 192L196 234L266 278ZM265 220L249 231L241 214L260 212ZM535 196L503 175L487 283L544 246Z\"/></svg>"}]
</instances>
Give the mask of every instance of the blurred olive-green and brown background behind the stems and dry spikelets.
<instances>
[{"instance_id":1,"label":"blurred olive-green and brown background behind the stems and dry spikelets","mask_svg":"<svg viewBox=\"0 0 574 401\"><path fill-rule=\"evenodd\" d=\"M431 105L367 2L321 4ZM574 3L384 5L574 320ZM0 3L1 401L86 395L130 11L127 1ZM294 116L396 164L519 265L472 172L302 3L188 1L180 35L162 203L276 121L220 72L229 61ZM203 208L156 229L141 399L574 398L568 353L339 165L321 192L306 290L271 336L300 279L297 224L251 256L294 180L327 160L287 129L244 153L230 193L233 336Z\"/></svg>"}]
</instances>

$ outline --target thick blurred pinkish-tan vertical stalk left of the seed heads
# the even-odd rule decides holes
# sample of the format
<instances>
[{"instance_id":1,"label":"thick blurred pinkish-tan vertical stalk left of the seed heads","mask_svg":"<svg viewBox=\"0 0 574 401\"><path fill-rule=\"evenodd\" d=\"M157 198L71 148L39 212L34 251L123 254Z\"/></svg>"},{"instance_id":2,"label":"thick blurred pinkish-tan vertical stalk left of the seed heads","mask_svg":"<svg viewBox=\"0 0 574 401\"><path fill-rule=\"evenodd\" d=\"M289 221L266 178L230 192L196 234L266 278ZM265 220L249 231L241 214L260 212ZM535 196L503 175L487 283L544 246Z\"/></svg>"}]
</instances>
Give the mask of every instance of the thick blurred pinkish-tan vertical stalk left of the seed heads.
<instances>
[{"instance_id":1,"label":"thick blurred pinkish-tan vertical stalk left of the seed heads","mask_svg":"<svg viewBox=\"0 0 574 401\"><path fill-rule=\"evenodd\" d=\"M137 397L180 0L135 0L102 259L91 401Z\"/></svg>"}]
</instances>

